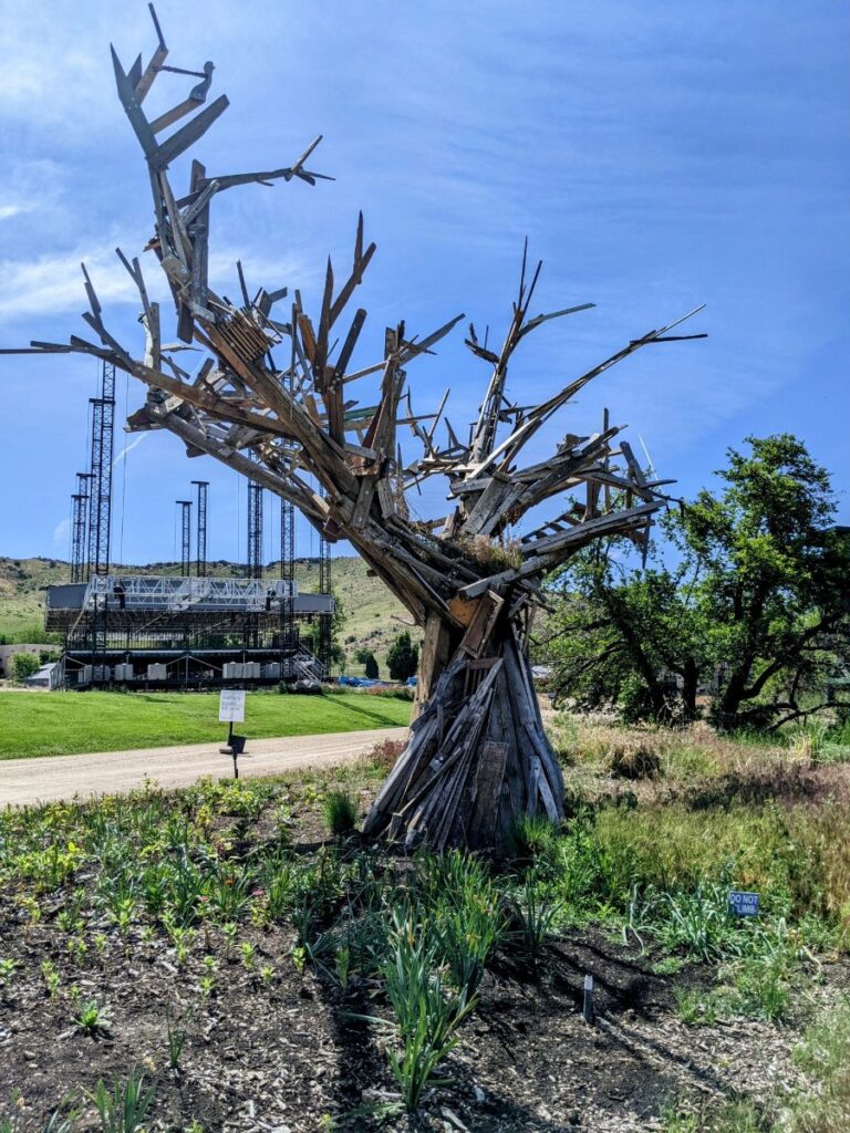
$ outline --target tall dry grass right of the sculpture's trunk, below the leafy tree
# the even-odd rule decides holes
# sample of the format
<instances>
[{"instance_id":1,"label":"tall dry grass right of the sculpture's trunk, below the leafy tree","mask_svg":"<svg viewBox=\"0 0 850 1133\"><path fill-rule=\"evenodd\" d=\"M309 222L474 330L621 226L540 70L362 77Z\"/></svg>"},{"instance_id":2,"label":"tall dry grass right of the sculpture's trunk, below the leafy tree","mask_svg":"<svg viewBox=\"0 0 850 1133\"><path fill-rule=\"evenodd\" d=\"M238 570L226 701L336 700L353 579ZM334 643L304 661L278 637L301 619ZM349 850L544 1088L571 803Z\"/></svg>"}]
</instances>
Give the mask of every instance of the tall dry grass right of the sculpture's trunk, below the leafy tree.
<instances>
[{"instance_id":1,"label":"tall dry grass right of the sculpture's trunk, below the leafy tree","mask_svg":"<svg viewBox=\"0 0 850 1133\"><path fill-rule=\"evenodd\" d=\"M612 892L733 876L777 911L825 918L850 947L850 765L704 724L665 731L561 716L550 731L568 792L598 806Z\"/></svg>"}]
</instances>

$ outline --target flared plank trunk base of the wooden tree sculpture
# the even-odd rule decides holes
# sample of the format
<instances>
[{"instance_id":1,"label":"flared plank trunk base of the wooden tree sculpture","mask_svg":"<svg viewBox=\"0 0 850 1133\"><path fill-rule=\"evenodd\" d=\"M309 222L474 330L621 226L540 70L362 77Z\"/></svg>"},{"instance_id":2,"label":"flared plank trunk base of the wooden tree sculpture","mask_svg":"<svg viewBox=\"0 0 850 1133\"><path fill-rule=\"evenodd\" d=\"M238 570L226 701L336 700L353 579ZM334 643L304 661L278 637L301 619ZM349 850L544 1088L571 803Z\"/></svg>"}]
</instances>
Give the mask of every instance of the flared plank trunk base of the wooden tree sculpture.
<instances>
[{"instance_id":1,"label":"flared plank trunk base of the wooden tree sculpture","mask_svg":"<svg viewBox=\"0 0 850 1133\"><path fill-rule=\"evenodd\" d=\"M486 657L456 638L428 619L410 739L364 830L408 847L498 851L516 818L563 816L563 781L515 625L494 630Z\"/></svg>"}]
</instances>

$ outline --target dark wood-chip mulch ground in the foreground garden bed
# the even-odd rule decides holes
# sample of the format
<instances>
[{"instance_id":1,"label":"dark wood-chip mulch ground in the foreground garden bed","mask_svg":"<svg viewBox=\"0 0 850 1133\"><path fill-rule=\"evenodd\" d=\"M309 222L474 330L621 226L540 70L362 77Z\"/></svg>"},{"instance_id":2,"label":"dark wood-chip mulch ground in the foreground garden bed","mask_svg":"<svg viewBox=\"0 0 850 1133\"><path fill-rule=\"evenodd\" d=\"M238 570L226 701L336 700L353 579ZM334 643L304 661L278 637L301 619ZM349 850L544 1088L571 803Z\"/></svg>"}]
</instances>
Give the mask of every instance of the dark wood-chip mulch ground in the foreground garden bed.
<instances>
[{"instance_id":1,"label":"dark wood-chip mulch ground in the foreground garden bed","mask_svg":"<svg viewBox=\"0 0 850 1133\"><path fill-rule=\"evenodd\" d=\"M220 964L215 990L204 997L203 934L180 969L167 940L131 936L126 955L125 940L105 925L103 931L101 955L90 948L76 964L67 937L49 919L24 929L17 910L3 913L0 956L22 966L0 993L0 1100L20 1091L24 1128L41 1130L36 1119L62 1099L78 1101L99 1077L109 1081L133 1066L158 1083L151 1130L184 1130L193 1119L207 1133L381 1126L382 1107L397 1097L394 1083L380 1032L350 1017L380 1011L374 987L352 981L343 995L334 980L296 970L286 930L249 929L241 939L256 946L257 970L273 965L272 981L236 959L226 961L213 932ZM53 999L39 974L45 959L63 977ZM596 988L593 1028L581 1017L587 972ZM845 978L843 969L827 969L825 985L813 994L825 998ZM699 968L655 976L646 955L597 931L571 932L551 945L536 973L500 961L486 973L481 1004L445 1064L450 1084L432 1092L418 1117L394 1113L383 1127L653 1130L664 1099L736 1091L766 1098L794 1077L794 1032L740 1020L686 1026L675 1014L673 986L709 981ZM107 1008L101 1033L74 1026L71 983ZM167 1011L172 1026L186 1031L179 1073L169 1068ZM88 1113L94 1116L91 1107ZM79 1128L88 1127L95 1123L84 1118Z\"/></svg>"}]
</instances>

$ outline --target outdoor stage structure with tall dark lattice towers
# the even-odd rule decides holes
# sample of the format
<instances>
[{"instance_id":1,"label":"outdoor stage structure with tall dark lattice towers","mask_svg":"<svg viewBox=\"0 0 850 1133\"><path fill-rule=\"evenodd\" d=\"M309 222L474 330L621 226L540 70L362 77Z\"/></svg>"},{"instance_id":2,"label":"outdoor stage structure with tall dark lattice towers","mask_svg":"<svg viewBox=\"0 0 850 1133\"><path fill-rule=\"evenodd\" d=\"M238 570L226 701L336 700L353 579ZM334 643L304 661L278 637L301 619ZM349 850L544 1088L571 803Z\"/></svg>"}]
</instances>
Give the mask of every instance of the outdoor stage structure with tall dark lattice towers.
<instances>
[{"instance_id":1,"label":"outdoor stage structure with tall dark lattice towers","mask_svg":"<svg viewBox=\"0 0 850 1133\"><path fill-rule=\"evenodd\" d=\"M320 593L299 594L295 509L281 501L280 571L269 578L262 484L247 484L244 578L210 574L209 480L193 480L194 499L176 501L179 574L129 573L111 563L114 366L105 360L100 385L90 399L88 470L77 472L71 495L70 582L46 594L46 629L65 638L61 684L244 688L324 680L333 616L330 546L320 540ZM301 639L305 622L316 628L314 648Z\"/></svg>"}]
</instances>

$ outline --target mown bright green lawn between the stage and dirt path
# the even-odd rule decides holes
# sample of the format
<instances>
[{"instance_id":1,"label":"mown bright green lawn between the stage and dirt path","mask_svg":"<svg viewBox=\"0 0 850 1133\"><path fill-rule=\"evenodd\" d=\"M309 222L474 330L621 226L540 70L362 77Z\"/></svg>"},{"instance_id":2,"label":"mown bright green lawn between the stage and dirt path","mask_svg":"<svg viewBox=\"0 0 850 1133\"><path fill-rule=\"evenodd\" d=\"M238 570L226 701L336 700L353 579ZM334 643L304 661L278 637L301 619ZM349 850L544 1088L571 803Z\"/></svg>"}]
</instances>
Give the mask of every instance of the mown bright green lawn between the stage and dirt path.
<instances>
[{"instance_id":1,"label":"mown bright green lawn between the stage and dirt path","mask_svg":"<svg viewBox=\"0 0 850 1133\"><path fill-rule=\"evenodd\" d=\"M261 739L409 723L410 704L390 697L249 692L237 731ZM0 692L0 759L203 743L226 734L215 693Z\"/></svg>"}]
</instances>

